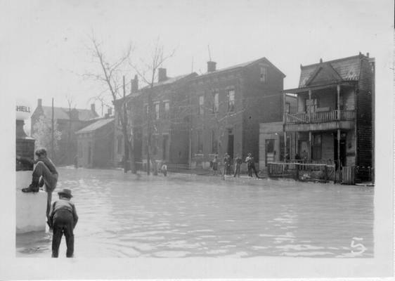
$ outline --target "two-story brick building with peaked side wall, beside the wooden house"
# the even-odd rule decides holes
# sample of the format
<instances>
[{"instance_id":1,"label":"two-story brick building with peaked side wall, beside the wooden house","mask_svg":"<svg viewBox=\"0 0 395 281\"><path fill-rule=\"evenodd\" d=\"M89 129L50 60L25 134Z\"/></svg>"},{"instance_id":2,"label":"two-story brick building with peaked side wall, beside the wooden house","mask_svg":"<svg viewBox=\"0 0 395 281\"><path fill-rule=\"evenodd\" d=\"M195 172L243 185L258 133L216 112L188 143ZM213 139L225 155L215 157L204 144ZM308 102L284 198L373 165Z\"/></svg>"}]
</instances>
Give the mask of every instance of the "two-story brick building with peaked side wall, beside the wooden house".
<instances>
[{"instance_id":1,"label":"two-story brick building with peaked side wall, beside the wooden house","mask_svg":"<svg viewBox=\"0 0 395 281\"><path fill-rule=\"evenodd\" d=\"M259 163L259 123L283 120L285 74L267 58L216 70L190 79L190 159L192 167L208 168L214 155Z\"/></svg>"}]
</instances>

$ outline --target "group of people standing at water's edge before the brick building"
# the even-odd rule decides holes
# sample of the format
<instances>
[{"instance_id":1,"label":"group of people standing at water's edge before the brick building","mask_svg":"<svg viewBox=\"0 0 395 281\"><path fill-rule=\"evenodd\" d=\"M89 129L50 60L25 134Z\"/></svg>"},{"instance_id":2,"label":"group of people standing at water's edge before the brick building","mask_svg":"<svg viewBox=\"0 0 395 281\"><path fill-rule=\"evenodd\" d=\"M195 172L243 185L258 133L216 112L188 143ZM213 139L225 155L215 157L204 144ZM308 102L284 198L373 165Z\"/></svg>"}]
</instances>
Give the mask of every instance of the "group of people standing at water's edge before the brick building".
<instances>
[{"instance_id":1,"label":"group of people standing at water's edge before the brick building","mask_svg":"<svg viewBox=\"0 0 395 281\"><path fill-rule=\"evenodd\" d=\"M228 153L225 153L223 159L224 174L226 175L233 174L233 177L236 176L240 177L240 166L242 163L243 163L242 158L239 155L236 155L235 159L233 160L231 159L231 156L228 155ZM252 171L254 171L255 176L259 178L257 169L255 169L254 157L252 157L251 153L248 153L247 157L245 158L245 163L247 163L248 176L252 177ZM232 173L232 164L233 164L233 173ZM218 165L219 165L218 155L215 155L211 163L212 169L214 171L214 176L216 176L217 174Z\"/></svg>"}]
</instances>

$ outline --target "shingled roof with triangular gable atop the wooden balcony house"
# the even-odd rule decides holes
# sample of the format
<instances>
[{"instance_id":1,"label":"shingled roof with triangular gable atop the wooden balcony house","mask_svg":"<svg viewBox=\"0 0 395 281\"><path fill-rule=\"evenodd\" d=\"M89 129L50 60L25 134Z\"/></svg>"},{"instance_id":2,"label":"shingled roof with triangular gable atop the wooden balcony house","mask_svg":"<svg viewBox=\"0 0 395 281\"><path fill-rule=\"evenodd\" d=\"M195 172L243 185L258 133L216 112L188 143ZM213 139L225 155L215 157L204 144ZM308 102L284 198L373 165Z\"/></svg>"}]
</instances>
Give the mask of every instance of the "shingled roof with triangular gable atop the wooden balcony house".
<instances>
[{"instance_id":1,"label":"shingled roof with triangular gable atop the wooden balcony house","mask_svg":"<svg viewBox=\"0 0 395 281\"><path fill-rule=\"evenodd\" d=\"M356 81L361 72L361 58L365 55L354 55L348 58L329 60L327 62L315 63L300 67L299 88L304 88L309 84L319 84L324 80L324 76L332 81ZM328 80L326 80L328 83Z\"/></svg>"}]
</instances>

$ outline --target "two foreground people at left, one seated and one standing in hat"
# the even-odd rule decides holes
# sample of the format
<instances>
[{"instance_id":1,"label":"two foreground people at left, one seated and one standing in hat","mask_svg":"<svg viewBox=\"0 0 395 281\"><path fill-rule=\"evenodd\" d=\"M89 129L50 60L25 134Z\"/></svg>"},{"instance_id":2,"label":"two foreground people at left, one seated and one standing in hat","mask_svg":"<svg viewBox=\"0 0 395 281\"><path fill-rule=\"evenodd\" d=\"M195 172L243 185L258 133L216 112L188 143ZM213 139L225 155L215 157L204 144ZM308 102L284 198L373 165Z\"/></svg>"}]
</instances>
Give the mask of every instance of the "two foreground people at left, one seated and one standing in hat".
<instances>
[{"instance_id":1,"label":"two foreground people at left, one seated and one standing in hat","mask_svg":"<svg viewBox=\"0 0 395 281\"><path fill-rule=\"evenodd\" d=\"M46 155L44 148L36 150L37 159L30 159L17 155L16 159L20 162L29 162L34 164L32 173L32 183L27 188L22 188L22 192L39 192L40 188L45 185L47 192L46 202L46 218L49 229L52 230L52 257L57 258L59 253L60 241L65 235L67 258L71 258L74 254L74 233L73 230L77 225L78 216L75 204L70 201L72 192L70 189L63 188L58 192L59 200L51 204L52 192L58 183L58 171L56 167Z\"/></svg>"}]
</instances>

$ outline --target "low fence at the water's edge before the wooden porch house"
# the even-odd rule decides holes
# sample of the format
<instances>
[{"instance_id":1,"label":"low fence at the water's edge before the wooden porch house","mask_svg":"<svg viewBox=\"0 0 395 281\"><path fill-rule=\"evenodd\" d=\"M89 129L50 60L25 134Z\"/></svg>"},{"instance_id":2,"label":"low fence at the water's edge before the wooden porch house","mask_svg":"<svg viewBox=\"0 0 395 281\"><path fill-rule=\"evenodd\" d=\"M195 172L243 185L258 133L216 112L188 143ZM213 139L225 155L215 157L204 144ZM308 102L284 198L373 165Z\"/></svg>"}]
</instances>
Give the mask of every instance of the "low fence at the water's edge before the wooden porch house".
<instances>
[{"instance_id":1,"label":"low fence at the water's edge before the wooden porch house","mask_svg":"<svg viewBox=\"0 0 395 281\"><path fill-rule=\"evenodd\" d=\"M300 162L270 162L267 164L268 176L271 178L294 178L297 181L339 181L335 165L306 164Z\"/></svg>"}]
</instances>

